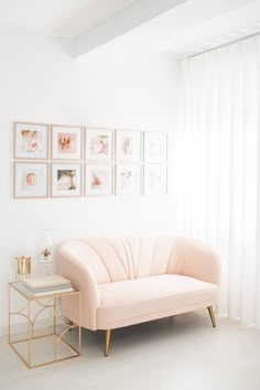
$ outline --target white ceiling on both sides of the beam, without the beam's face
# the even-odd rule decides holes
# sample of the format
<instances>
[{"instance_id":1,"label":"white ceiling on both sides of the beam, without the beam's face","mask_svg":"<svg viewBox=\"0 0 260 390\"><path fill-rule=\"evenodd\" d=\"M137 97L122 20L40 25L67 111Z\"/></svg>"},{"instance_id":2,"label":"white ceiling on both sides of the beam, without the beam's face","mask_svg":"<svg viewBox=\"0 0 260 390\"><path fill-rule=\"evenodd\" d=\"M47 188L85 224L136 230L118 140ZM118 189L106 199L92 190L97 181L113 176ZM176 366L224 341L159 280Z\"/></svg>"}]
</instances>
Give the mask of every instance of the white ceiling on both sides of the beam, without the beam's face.
<instances>
[{"instance_id":1,"label":"white ceiling on both sides of the beam, without the beam's face","mask_svg":"<svg viewBox=\"0 0 260 390\"><path fill-rule=\"evenodd\" d=\"M0 0L0 26L77 39L137 2L141 0ZM260 32L260 0L187 0L111 40L102 51L186 56L256 32Z\"/></svg>"}]
</instances>

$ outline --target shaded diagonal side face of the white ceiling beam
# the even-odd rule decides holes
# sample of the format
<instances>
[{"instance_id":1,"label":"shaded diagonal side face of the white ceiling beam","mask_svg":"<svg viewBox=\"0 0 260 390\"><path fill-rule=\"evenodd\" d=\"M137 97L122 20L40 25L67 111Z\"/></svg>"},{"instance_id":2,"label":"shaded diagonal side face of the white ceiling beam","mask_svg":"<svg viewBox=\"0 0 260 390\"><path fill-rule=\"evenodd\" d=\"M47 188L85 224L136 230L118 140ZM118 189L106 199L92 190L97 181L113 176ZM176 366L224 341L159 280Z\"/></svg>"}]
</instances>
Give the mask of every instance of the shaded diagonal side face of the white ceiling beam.
<instances>
[{"instance_id":1,"label":"shaded diagonal side face of the white ceiling beam","mask_svg":"<svg viewBox=\"0 0 260 390\"><path fill-rule=\"evenodd\" d=\"M75 40L74 56L118 37L187 0L137 0Z\"/></svg>"}]
</instances>

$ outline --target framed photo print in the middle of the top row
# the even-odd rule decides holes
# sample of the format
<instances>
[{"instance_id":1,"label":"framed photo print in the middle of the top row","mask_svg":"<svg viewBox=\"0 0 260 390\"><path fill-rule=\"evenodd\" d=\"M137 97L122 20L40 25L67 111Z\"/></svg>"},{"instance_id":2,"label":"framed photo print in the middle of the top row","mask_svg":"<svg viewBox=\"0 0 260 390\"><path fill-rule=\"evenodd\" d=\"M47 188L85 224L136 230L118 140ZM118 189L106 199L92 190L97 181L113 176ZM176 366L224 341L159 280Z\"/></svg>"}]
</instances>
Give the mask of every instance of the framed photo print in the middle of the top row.
<instances>
[{"instance_id":1,"label":"framed photo print in the middle of the top row","mask_svg":"<svg viewBox=\"0 0 260 390\"><path fill-rule=\"evenodd\" d=\"M86 160L111 161L113 131L108 129L86 129Z\"/></svg>"}]
</instances>

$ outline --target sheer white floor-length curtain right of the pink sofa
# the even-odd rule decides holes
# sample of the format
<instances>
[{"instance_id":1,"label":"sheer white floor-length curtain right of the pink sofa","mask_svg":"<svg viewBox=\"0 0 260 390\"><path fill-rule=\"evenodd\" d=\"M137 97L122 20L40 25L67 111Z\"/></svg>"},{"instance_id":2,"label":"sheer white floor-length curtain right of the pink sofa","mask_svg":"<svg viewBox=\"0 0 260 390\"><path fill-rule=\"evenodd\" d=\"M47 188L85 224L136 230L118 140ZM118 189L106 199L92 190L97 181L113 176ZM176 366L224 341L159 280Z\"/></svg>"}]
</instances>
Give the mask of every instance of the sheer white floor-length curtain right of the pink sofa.
<instances>
[{"instance_id":1,"label":"sheer white floor-length curtain right of the pink sofa","mask_svg":"<svg viewBox=\"0 0 260 390\"><path fill-rule=\"evenodd\" d=\"M218 313L260 327L260 36L185 59L181 73L177 229L220 254Z\"/></svg>"}]
</instances>

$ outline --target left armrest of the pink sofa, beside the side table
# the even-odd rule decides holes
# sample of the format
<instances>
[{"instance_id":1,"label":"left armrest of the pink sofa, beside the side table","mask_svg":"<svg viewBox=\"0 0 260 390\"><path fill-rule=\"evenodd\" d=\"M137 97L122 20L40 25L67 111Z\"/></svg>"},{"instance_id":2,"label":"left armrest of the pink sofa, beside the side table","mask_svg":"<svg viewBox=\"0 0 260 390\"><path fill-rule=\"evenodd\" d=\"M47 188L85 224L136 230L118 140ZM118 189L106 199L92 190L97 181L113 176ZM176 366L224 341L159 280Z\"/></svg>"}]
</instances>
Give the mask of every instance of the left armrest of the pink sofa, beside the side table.
<instances>
[{"instance_id":1,"label":"left armrest of the pink sofa, beside the side table","mask_svg":"<svg viewBox=\"0 0 260 390\"><path fill-rule=\"evenodd\" d=\"M74 288L80 291L80 319L82 326L96 331L97 307L100 305L97 281L91 269L66 245L59 247L57 252L58 272L71 280ZM64 300L65 315L74 321L76 308ZM75 321L76 322L76 321Z\"/></svg>"}]
</instances>

